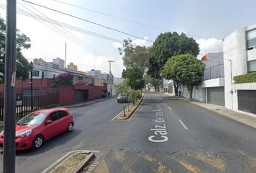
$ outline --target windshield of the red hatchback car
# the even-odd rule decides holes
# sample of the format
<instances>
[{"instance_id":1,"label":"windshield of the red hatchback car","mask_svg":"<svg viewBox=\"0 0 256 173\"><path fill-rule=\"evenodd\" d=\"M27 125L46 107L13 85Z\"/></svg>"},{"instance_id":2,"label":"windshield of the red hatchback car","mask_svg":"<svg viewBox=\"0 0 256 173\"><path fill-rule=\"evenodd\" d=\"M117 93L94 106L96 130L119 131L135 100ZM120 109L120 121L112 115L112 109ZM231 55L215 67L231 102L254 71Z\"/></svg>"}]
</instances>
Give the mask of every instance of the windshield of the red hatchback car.
<instances>
[{"instance_id":1,"label":"windshield of the red hatchback car","mask_svg":"<svg viewBox=\"0 0 256 173\"><path fill-rule=\"evenodd\" d=\"M30 113L18 121L17 125L39 125L46 118L46 113Z\"/></svg>"}]
</instances>

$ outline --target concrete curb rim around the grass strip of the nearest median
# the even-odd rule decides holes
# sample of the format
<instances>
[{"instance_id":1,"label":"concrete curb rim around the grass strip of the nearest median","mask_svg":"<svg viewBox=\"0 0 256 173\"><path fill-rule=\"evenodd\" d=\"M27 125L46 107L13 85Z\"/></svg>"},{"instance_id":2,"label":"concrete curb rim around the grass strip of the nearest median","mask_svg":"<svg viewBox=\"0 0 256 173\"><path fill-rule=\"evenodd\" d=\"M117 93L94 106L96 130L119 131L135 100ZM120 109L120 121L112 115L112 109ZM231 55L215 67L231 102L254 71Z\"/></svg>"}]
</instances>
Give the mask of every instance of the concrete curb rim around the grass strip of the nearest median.
<instances>
[{"instance_id":1,"label":"concrete curb rim around the grass strip of the nearest median","mask_svg":"<svg viewBox=\"0 0 256 173\"><path fill-rule=\"evenodd\" d=\"M86 167L94 157L93 152L90 152L90 151L87 151L87 150L70 151L67 154L65 154L63 157L61 157L61 159L54 162L54 164L51 164L50 167L44 169L42 173L55 173L56 169L58 167L60 167L61 164L63 164L65 161L68 161L69 158L71 158L75 154L88 154L88 156L86 156L85 159L80 160L79 161L80 163L77 163L77 166L75 166L74 169L72 169L72 172L69 171L70 173L82 172L82 169L84 167Z\"/></svg>"}]
</instances>

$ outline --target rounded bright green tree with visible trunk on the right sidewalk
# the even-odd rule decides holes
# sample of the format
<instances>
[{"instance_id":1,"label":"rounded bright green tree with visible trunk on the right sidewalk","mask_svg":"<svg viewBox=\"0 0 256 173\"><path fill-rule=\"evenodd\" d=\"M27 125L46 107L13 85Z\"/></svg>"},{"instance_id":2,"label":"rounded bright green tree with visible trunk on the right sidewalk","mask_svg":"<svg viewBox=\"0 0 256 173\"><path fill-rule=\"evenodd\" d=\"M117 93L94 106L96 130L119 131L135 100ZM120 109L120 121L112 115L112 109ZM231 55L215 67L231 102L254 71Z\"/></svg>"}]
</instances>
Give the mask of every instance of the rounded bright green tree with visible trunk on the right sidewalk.
<instances>
[{"instance_id":1,"label":"rounded bright green tree with visible trunk on the right sidewalk","mask_svg":"<svg viewBox=\"0 0 256 173\"><path fill-rule=\"evenodd\" d=\"M166 62L163 76L187 86L192 101L193 88L201 83L204 70L205 64L202 61L190 54L184 54L174 56Z\"/></svg>"}]
</instances>

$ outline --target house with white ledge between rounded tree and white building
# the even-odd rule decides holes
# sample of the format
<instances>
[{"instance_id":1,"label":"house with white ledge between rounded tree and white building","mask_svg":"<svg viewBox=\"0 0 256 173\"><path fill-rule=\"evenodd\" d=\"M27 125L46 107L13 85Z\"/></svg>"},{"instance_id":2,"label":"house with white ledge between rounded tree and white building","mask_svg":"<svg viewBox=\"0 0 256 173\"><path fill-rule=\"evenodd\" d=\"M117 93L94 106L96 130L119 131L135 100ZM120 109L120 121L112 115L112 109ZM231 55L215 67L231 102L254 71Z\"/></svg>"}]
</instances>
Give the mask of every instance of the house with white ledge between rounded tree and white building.
<instances>
[{"instance_id":1,"label":"house with white ledge between rounded tree and white building","mask_svg":"<svg viewBox=\"0 0 256 173\"><path fill-rule=\"evenodd\" d=\"M201 61L205 71L202 83L193 89L193 99L225 106L223 53L207 53ZM189 98L187 86L182 87L182 96Z\"/></svg>"}]
</instances>

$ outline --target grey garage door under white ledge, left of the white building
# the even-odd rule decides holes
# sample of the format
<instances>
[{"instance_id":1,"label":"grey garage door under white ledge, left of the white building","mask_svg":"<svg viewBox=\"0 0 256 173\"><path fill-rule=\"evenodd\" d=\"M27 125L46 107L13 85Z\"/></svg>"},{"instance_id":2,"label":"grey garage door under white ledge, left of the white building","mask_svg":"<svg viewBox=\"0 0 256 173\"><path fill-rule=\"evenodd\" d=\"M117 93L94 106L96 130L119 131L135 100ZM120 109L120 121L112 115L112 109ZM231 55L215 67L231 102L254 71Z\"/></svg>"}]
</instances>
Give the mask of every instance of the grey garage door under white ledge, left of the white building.
<instances>
[{"instance_id":1,"label":"grey garage door under white ledge, left of the white building","mask_svg":"<svg viewBox=\"0 0 256 173\"><path fill-rule=\"evenodd\" d=\"M207 88L207 102L214 105L225 106L224 87Z\"/></svg>"}]
</instances>

